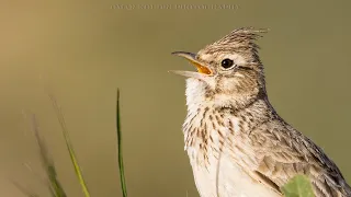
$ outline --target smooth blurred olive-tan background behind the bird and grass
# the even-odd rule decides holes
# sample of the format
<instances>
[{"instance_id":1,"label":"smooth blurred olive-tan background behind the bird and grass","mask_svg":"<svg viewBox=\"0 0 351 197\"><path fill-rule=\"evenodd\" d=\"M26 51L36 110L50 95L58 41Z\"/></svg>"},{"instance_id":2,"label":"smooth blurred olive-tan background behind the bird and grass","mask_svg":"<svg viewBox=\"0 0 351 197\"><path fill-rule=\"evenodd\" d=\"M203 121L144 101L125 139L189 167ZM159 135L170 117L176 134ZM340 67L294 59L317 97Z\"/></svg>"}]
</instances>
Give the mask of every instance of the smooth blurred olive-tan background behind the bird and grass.
<instances>
[{"instance_id":1,"label":"smooth blurred olive-tan background behind the bird and grass","mask_svg":"<svg viewBox=\"0 0 351 197\"><path fill-rule=\"evenodd\" d=\"M207 9L194 7L203 4ZM3 1L0 196L22 196L9 179L47 195L23 111L37 115L68 195L82 196L47 90L61 106L91 195L122 196L117 86L128 195L199 196L183 151L184 79L167 72L193 68L170 53L197 51L241 26L271 30L259 44L272 104L351 182L350 7L351 1Z\"/></svg>"}]
</instances>

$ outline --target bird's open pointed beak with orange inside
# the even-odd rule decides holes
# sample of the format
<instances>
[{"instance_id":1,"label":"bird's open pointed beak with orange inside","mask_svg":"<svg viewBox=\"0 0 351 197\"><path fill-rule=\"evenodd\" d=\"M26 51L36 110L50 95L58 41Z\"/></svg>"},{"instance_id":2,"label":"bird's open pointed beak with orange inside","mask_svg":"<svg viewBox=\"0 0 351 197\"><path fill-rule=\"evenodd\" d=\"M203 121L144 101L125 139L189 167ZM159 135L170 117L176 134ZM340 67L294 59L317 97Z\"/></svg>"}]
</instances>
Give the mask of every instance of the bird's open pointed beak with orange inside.
<instances>
[{"instance_id":1,"label":"bird's open pointed beak with orange inside","mask_svg":"<svg viewBox=\"0 0 351 197\"><path fill-rule=\"evenodd\" d=\"M186 51L174 51L172 55L180 56L189 60L192 65L194 65L197 69L197 72L191 72L191 71L171 71L177 74L185 76L185 77L195 77L199 78L200 76L211 76L213 72L212 70L204 66L203 63L199 62L196 60L196 55L192 53Z\"/></svg>"}]
</instances>

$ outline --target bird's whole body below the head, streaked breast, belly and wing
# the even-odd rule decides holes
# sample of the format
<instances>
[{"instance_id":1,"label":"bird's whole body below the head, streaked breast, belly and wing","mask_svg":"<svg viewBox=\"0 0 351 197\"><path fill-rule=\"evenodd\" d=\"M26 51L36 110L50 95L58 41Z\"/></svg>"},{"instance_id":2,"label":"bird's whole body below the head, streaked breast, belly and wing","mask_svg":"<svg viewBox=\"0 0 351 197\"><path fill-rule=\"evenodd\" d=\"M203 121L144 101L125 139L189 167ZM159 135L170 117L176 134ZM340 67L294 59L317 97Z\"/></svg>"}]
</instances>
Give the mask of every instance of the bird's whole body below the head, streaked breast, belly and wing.
<instances>
[{"instance_id":1,"label":"bird's whole body below the head, streaked breast, belly and wing","mask_svg":"<svg viewBox=\"0 0 351 197\"><path fill-rule=\"evenodd\" d=\"M201 197L280 197L280 187L297 174L310 178L317 197L351 195L335 163L267 101L234 115L215 109L201 91L201 83L188 80L183 125Z\"/></svg>"}]
</instances>

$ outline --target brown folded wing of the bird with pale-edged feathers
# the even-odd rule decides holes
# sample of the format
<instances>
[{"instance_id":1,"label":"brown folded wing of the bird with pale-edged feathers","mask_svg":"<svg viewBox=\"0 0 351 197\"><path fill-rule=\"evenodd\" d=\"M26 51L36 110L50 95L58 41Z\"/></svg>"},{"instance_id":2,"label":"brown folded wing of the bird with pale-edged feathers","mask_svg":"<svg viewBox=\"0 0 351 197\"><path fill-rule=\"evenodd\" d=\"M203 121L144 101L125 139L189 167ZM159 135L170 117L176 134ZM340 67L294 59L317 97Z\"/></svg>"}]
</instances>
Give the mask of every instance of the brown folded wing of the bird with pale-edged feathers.
<instances>
[{"instance_id":1,"label":"brown folded wing of the bird with pale-edged feathers","mask_svg":"<svg viewBox=\"0 0 351 197\"><path fill-rule=\"evenodd\" d=\"M268 123L247 136L256 152L250 174L275 189L297 174L312 181L317 197L351 196L337 165L313 141L283 121Z\"/></svg>"}]
</instances>

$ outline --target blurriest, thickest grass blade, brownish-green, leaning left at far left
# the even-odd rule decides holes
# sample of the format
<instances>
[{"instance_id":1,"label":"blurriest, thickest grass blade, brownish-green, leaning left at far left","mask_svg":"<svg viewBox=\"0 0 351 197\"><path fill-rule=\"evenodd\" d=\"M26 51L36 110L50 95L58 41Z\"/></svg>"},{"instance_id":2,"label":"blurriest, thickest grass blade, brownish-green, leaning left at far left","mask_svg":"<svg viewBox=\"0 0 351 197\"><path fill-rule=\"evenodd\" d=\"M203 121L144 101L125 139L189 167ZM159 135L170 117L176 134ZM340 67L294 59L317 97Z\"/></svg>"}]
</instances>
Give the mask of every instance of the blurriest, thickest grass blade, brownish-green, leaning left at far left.
<instances>
[{"instance_id":1,"label":"blurriest, thickest grass blade, brownish-green, leaning left at far left","mask_svg":"<svg viewBox=\"0 0 351 197\"><path fill-rule=\"evenodd\" d=\"M38 125L35 115L32 115L32 124L33 124L33 131L35 134L36 142L39 147L41 160L42 164L45 169L45 172L48 176L48 185L49 190L53 197L67 197L64 187L59 183L57 178L56 169L54 165L53 160L49 158L46 144L42 140L38 131Z\"/></svg>"}]
</instances>

